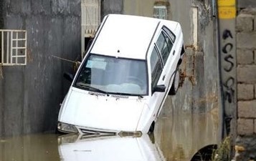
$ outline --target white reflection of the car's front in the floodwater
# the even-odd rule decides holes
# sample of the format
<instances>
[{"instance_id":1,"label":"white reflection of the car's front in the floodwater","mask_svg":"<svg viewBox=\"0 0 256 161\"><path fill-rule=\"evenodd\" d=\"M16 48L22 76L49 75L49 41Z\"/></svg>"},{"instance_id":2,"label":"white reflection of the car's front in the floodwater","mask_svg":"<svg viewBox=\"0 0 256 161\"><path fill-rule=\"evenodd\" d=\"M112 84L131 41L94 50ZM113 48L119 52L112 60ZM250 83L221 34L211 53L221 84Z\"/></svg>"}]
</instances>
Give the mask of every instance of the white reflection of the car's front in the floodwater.
<instances>
[{"instance_id":1,"label":"white reflection of the car's front in the floodwater","mask_svg":"<svg viewBox=\"0 0 256 161\"><path fill-rule=\"evenodd\" d=\"M152 139L152 138L151 138ZM60 137L59 152L61 160L164 160L157 144L148 135L141 137Z\"/></svg>"}]
</instances>

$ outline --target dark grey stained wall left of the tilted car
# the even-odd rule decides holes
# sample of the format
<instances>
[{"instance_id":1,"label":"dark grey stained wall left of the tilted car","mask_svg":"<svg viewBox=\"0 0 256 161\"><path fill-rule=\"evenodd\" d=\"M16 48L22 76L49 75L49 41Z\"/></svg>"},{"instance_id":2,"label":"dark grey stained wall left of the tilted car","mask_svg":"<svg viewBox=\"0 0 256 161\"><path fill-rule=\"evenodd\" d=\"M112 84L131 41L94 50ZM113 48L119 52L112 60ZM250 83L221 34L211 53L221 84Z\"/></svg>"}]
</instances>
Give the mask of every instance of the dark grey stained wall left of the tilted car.
<instances>
[{"instance_id":1,"label":"dark grey stained wall left of the tilted car","mask_svg":"<svg viewBox=\"0 0 256 161\"><path fill-rule=\"evenodd\" d=\"M0 136L54 130L72 72L80 55L80 0L3 1L4 29L27 30L27 66L2 67Z\"/></svg>"}]
</instances>

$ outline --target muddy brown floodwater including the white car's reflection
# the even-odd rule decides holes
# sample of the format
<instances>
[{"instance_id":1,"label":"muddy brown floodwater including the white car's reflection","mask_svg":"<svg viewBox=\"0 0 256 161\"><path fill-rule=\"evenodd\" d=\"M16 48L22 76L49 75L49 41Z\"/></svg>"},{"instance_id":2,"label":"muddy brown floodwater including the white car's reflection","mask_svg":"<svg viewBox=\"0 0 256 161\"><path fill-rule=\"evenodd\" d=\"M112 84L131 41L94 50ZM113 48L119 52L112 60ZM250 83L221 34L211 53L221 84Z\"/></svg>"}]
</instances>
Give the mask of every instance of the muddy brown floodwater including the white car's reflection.
<instances>
[{"instance_id":1,"label":"muddy brown floodwater including the white car's reflection","mask_svg":"<svg viewBox=\"0 0 256 161\"><path fill-rule=\"evenodd\" d=\"M171 114L154 135L81 137L37 134L0 139L0 161L190 160L201 147L217 143L214 114Z\"/></svg>"}]
</instances>

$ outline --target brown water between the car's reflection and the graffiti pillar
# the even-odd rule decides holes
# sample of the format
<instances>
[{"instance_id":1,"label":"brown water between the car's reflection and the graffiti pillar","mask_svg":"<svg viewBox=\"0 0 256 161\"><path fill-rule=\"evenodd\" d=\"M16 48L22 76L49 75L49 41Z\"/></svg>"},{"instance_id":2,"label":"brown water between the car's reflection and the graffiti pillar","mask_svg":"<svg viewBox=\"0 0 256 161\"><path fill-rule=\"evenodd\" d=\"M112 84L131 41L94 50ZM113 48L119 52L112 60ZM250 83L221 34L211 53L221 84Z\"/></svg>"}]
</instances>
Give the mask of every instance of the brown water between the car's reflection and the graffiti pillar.
<instances>
[{"instance_id":1,"label":"brown water between the car's reflection and the graffiti pillar","mask_svg":"<svg viewBox=\"0 0 256 161\"><path fill-rule=\"evenodd\" d=\"M217 144L217 114L172 114L161 117L156 123L156 142L166 157L171 160L191 160L202 147Z\"/></svg>"}]
</instances>

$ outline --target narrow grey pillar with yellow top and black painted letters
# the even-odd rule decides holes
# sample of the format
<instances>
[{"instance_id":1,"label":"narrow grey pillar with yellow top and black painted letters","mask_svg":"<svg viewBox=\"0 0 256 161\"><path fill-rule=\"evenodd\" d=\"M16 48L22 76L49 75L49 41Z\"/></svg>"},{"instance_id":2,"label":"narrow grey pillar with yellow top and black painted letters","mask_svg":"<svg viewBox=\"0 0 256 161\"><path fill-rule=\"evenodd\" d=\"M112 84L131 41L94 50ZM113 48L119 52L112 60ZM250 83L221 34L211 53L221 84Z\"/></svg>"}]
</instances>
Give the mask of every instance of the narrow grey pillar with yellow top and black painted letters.
<instances>
[{"instance_id":1,"label":"narrow grey pillar with yellow top and black painted letters","mask_svg":"<svg viewBox=\"0 0 256 161\"><path fill-rule=\"evenodd\" d=\"M222 137L232 132L231 122L236 111L236 44L235 44L235 0L218 0L219 17L219 63L222 89L222 112L224 130ZM234 130L233 130L234 131Z\"/></svg>"}]
</instances>

